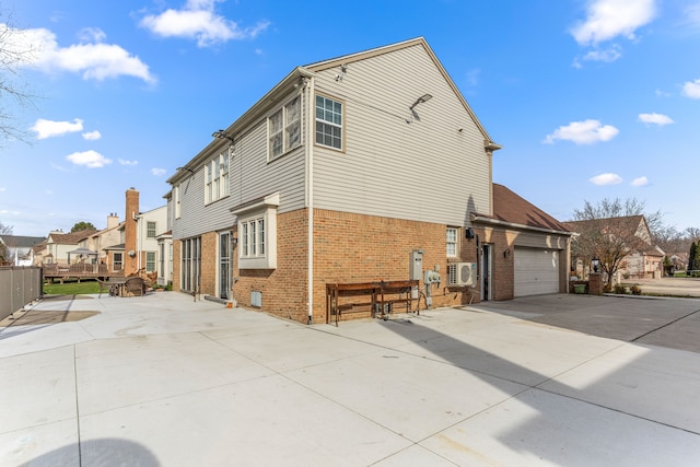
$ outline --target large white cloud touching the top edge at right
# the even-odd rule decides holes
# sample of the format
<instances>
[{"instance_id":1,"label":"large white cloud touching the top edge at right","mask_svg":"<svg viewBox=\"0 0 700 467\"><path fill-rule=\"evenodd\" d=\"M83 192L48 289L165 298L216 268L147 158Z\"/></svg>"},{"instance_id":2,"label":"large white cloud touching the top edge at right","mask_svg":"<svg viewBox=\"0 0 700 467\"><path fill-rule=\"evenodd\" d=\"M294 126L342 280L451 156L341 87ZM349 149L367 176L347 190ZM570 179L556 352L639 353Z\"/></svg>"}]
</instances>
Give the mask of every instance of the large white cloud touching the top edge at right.
<instances>
[{"instance_id":1,"label":"large white cloud touching the top edge at right","mask_svg":"<svg viewBox=\"0 0 700 467\"><path fill-rule=\"evenodd\" d=\"M593 0L586 20L571 30L580 45L595 45L618 36L634 39L634 32L656 15L655 0Z\"/></svg>"}]
</instances>

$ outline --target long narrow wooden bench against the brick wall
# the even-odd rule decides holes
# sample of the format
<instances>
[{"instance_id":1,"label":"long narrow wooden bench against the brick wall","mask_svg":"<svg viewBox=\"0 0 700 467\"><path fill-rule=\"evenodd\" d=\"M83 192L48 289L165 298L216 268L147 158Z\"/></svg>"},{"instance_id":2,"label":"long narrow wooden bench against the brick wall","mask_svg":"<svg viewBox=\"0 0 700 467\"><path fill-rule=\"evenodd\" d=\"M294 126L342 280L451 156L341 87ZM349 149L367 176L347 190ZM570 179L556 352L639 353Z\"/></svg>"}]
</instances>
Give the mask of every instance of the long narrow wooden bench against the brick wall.
<instances>
[{"instance_id":1,"label":"long narrow wooden bench against the brick wall","mask_svg":"<svg viewBox=\"0 0 700 467\"><path fill-rule=\"evenodd\" d=\"M416 300L411 297L413 288L418 288L418 280L326 284L326 323L335 319L338 326L342 315L348 313L387 319L397 303L406 304L409 313ZM394 296L397 294L398 297Z\"/></svg>"}]
</instances>

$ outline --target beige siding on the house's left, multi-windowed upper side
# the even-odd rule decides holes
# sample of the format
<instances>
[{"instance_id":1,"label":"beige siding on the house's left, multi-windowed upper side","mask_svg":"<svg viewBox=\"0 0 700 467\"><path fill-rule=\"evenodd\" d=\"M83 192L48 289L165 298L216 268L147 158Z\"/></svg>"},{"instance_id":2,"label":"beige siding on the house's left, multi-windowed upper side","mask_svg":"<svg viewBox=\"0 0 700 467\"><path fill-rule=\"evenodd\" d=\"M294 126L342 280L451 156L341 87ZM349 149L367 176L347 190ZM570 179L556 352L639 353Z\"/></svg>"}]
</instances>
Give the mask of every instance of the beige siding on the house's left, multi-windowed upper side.
<instances>
[{"instance_id":1,"label":"beige siding on the house's left, multi-windowed upper side","mask_svg":"<svg viewBox=\"0 0 700 467\"><path fill-rule=\"evenodd\" d=\"M303 103L302 108L305 112L306 103ZM302 118L302 122L304 121ZM305 141L304 130L302 138ZM268 162L266 117L257 120L241 136L234 136L234 139L235 152L229 161L230 195L205 206L205 171L200 166L192 177L180 183L182 217L173 222L173 238L188 238L229 229L235 223L231 208L277 191L280 192L278 212L304 207L303 144ZM217 147L211 155L219 154L228 147L228 143Z\"/></svg>"}]
</instances>

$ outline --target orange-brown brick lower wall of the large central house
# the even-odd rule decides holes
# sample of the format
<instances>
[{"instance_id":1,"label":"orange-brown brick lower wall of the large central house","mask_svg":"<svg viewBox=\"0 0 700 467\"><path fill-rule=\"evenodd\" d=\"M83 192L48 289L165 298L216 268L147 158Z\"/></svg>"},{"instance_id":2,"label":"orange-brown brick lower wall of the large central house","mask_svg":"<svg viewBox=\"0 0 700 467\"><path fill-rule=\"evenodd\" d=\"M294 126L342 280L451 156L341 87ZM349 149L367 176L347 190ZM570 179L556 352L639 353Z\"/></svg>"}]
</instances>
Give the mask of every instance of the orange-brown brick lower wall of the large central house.
<instances>
[{"instance_id":1,"label":"orange-brown brick lower wall of the large central house","mask_svg":"<svg viewBox=\"0 0 700 467\"><path fill-rule=\"evenodd\" d=\"M233 297L240 306L250 307L250 292L262 294L261 311L280 317L307 322L307 219L306 209L278 214L278 267L273 270L238 269L238 246L233 252ZM477 240L465 238L459 229L456 258L445 252L446 225L382 217L314 210L314 323L326 319L326 284L409 279L409 260L413 249L423 250L423 270L440 268L443 281L431 288L432 307L452 306L480 301L479 287L447 285L450 262L478 262L483 243L492 247L492 299L513 297L513 250L515 234L491 227L474 227ZM237 231L234 227L234 236ZM217 295L215 233L201 236L201 293ZM180 242L173 242L173 287L179 290ZM420 307L425 310L425 288L420 281ZM369 313L368 313L369 315ZM361 317L358 315L358 317Z\"/></svg>"}]
</instances>

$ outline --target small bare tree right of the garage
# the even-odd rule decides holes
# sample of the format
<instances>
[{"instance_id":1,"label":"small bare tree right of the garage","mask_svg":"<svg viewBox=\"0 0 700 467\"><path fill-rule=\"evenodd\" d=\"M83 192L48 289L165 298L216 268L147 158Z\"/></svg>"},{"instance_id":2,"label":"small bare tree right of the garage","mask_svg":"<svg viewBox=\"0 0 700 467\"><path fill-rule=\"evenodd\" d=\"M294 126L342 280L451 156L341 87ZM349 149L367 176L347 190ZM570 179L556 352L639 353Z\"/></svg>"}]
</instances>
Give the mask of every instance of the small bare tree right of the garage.
<instances>
[{"instance_id":1,"label":"small bare tree right of the garage","mask_svg":"<svg viewBox=\"0 0 700 467\"><path fill-rule=\"evenodd\" d=\"M649 230L663 230L661 211L645 213L645 203L635 198L621 201L604 199L597 205L584 201L582 210L574 210L572 227L580 236L572 243L572 255L591 260L596 258L602 272L610 283L614 275L625 265L625 258L635 250L649 248L651 237L638 232L640 215Z\"/></svg>"}]
</instances>

